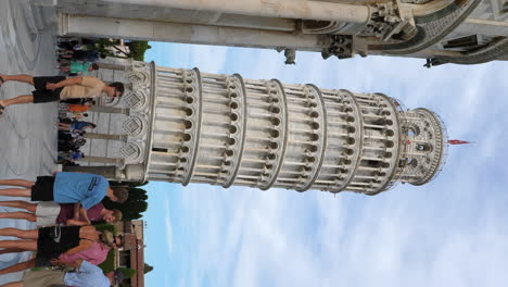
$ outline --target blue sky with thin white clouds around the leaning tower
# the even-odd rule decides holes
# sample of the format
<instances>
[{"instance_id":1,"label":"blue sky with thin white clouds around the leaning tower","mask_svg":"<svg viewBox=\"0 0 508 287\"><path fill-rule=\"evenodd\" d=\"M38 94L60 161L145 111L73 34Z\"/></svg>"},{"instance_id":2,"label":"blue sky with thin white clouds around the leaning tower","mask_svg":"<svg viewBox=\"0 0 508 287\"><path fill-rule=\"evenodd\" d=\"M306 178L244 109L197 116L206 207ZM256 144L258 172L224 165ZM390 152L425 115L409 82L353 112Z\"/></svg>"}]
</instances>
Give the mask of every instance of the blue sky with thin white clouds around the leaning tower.
<instances>
[{"instance_id":1,"label":"blue sky with thin white clouds around the leaning tower","mask_svg":"<svg viewBox=\"0 0 508 287\"><path fill-rule=\"evenodd\" d=\"M376 197L151 183L147 286L501 286L508 282L508 63L323 61L300 52L152 42L148 61L384 92L439 113L450 147L432 183Z\"/></svg>"}]
</instances>

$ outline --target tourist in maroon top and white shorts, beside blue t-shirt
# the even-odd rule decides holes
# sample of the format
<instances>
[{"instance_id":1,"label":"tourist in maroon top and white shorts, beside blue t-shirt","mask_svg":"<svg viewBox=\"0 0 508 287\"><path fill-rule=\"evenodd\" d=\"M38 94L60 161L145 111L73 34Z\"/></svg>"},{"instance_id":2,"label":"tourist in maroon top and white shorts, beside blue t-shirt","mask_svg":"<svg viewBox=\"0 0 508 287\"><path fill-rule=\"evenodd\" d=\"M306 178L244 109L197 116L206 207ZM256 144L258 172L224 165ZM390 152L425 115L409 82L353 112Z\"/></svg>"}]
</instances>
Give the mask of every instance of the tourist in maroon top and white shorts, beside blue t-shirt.
<instances>
[{"instance_id":1,"label":"tourist in maroon top and white shorts, beside blue t-shirt","mask_svg":"<svg viewBox=\"0 0 508 287\"><path fill-rule=\"evenodd\" d=\"M116 223L122 221L122 211L109 210L102 203L98 203L88 210L80 208L79 216L74 214L74 205L71 203L55 203L43 201L31 203L22 200L0 201L0 207L24 209L26 211L0 212L0 219L26 220L36 222L37 226L52 225L89 225L104 221Z\"/></svg>"}]
</instances>

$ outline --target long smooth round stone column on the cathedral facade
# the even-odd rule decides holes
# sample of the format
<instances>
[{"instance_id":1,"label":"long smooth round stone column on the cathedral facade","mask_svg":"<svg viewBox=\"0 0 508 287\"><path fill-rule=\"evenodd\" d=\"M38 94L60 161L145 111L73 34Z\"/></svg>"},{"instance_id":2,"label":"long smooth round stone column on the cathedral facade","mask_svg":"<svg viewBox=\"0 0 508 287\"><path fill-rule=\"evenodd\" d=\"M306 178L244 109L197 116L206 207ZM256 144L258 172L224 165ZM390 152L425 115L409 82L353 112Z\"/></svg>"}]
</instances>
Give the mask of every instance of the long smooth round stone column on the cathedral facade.
<instances>
[{"instance_id":1,"label":"long smooth round stone column on the cathedral facade","mask_svg":"<svg viewBox=\"0 0 508 287\"><path fill-rule=\"evenodd\" d=\"M60 14L59 34L306 51L321 51L330 45L321 35L69 14Z\"/></svg>"}]
</instances>

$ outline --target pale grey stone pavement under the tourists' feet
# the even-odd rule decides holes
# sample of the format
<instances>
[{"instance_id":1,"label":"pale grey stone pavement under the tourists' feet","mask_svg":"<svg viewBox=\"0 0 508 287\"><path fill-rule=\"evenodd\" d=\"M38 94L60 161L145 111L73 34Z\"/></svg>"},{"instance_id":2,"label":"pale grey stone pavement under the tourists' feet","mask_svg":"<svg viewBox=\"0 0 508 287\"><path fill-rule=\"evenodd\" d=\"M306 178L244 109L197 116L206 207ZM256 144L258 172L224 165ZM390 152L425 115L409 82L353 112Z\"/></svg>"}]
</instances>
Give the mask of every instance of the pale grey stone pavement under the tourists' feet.
<instances>
[{"instance_id":1,"label":"pale grey stone pavement under the tourists' feet","mask_svg":"<svg viewBox=\"0 0 508 287\"><path fill-rule=\"evenodd\" d=\"M0 73L52 75L54 67L54 27L41 35L29 33L24 1L0 1ZM31 87L25 84L7 83L0 88L0 98L27 95ZM25 104L8 108L0 117L0 178L35 179L54 170L56 154L56 104ZM4 188L4 187L0 187ZM18 198L0 197L0 200ZM8 211L0 208L0 212ZM29 229L34 224L26 221L0 220L0 227ZM0 240L9 239L1 237ZM30 252L1 254L0 269L25 261ZM22 273L0 276L0 284L17 280Z\"/></svg>"}]
</instances>

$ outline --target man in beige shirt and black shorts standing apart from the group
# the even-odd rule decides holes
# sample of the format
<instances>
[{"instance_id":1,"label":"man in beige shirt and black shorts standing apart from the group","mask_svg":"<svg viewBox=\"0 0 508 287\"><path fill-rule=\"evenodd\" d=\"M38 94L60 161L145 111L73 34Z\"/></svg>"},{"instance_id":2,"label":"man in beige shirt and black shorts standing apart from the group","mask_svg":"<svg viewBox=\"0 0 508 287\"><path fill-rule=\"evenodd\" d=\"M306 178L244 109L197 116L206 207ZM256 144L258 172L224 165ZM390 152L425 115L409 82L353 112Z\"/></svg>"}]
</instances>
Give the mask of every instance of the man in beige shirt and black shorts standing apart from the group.
<instances>
[{"instance_id":1,"label":"man in beige shirt and black shorts standing apart from the group","mask_svg":"<svg viewBox=\"0 0 508 287\"><path fill-rule=\"evenodd\" d=\"M33 77L30 75L0 75L0 86L7 82L22 82L35 87L33 95L0 100L0 114L11 104L41 103L72 98L96 98L106 93L109 97L120 97L124 84L119 82L106 85L93 76L66 78L64 76Z\"/></svg>"}]
</instances>

